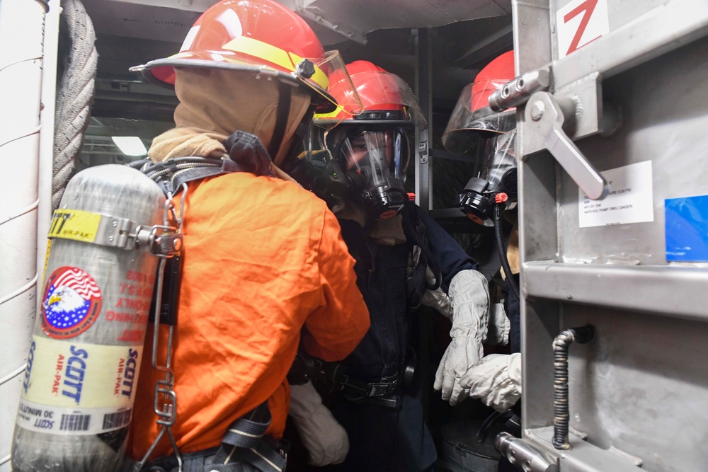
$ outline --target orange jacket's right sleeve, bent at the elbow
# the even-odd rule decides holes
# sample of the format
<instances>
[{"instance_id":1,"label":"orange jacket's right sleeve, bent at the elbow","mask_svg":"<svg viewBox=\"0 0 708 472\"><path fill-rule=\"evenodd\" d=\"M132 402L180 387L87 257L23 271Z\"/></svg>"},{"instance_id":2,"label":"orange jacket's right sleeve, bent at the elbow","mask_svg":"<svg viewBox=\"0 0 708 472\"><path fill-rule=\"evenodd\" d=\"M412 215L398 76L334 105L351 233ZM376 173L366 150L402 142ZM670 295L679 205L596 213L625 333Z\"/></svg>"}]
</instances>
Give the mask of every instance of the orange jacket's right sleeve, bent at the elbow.
<instances>
[{"instance_id":1,"label":"orange jacket's right sleeve, bent at the elbow","mask_svg":"<svg viewBox=\"0 0 708 472\"><path fill-rule=\"evenodd\" d=\"M324 302L305 321L302 342L327 362L347 357L369 329L369 310L356 284L354 258L336 217L325 209L318 255Z\"/></svg>"}]
</instances>

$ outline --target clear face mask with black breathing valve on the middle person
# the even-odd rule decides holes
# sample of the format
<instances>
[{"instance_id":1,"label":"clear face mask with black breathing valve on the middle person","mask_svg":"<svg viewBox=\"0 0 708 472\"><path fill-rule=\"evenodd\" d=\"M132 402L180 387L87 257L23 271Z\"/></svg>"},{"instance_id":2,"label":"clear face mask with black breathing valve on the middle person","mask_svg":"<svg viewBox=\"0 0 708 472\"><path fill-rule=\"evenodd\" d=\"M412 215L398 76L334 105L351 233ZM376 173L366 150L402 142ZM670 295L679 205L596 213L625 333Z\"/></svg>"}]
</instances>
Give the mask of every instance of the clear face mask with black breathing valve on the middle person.
<instances>
[{"instance_id":1,"label":"clear face mask with black breathing valve on the middle person","mask_svg":"<svg viewBox=\"0 0 708 472\"><path fill-rule=\"evenodd\" d=\"M404 180L409 149L402 129L360 131L343 140L338 161L354 180L356 200L372 217L392 218L408 200Z\"/></svg>"}]
</instances>

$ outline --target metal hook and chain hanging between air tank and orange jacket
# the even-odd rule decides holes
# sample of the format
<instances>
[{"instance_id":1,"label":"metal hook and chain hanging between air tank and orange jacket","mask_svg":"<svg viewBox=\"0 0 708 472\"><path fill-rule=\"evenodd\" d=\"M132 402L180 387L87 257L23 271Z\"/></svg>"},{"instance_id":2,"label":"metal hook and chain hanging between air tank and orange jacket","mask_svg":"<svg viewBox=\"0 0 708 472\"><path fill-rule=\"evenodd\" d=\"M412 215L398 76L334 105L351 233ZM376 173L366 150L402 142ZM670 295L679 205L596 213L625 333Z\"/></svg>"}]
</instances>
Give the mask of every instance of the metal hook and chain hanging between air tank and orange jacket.
<instances>
[{"instance_id":1,"label":"metal hook and chain hanging between air tank and orange jacket","mask_svg":"<svg viewBox=\"0 0 708 472\"><path fill-rule=\"evenodd\" d=\"M166 231L174 231L174 226L170 223L173 221L176 223L176 235L178 238L173 238L171 241L179 241L179 247L174 247L177 253L181 253L181 236L182 236L182 221L184 219L184 200L187 195L187 184L183 183L181 185L182 195L180 198L180 210L179 214L175 211L175 206L172 202L173 194L170 192L167 194L164 205L164 217L162 229ZM168 241L169 243L169 241ZM158 241L159 244L159 241ZM174 254L173 254L174 255ZM177 393L174 391L174 369L172 367L172 350L173 350L173 337L176 323L169 323L168 335L167 335L167 352L164 359L164 365L158 362L158 350L159 350L159 327L160 327L160 314L162 306L162 289L164 284L164 273L167 259L173 257L173 255L157 255L160 258L158 270L157 270L157 280L155 284L155 311L154 311L154 324L152 333L152 368L158 372L164 373L164 379L159 380L155 384L154 391L154 412L158 419L156 420L157 425L160 426L160 431L157 434L154 442L148 449L145 456L135 464L134 471L139 471L142 466L147 462L150 455L154 451L155 447L164 437L165 433L169 437L172 449L175 453L178 472L182 472L182 457L177 448L177 443L172 433L172 427L177 420ZM176 303L177 301L174 301Z\"/></svg>"}]
</instances>

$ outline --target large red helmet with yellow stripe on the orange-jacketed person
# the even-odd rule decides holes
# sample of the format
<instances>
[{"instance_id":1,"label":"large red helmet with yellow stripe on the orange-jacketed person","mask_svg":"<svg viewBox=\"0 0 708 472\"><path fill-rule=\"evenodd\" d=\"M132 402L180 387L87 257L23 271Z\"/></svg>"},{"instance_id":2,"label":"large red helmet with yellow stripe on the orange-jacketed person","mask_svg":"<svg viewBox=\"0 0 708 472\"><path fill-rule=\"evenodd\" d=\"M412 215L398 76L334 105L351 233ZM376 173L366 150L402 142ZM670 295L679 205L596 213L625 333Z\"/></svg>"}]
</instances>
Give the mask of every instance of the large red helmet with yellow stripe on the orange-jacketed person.
<instances>
[{"instance_id":1,"label":"large red helmet with yellow stripe on the orange-jacketed person","mask_svg":"<svg viewBox=\"0 0 708 472\"><path fill-rule=\"evenodd\" d=\"M326 93L327 75L344 69L337 51L324 52L312 28L273 0L219 1L194 23L180 52L131 70L142 71L154 84L173 87L175 67L287 74L309 87L315 103L324 103L319 110L336 105Z\"/></svg>"}]
</instances>

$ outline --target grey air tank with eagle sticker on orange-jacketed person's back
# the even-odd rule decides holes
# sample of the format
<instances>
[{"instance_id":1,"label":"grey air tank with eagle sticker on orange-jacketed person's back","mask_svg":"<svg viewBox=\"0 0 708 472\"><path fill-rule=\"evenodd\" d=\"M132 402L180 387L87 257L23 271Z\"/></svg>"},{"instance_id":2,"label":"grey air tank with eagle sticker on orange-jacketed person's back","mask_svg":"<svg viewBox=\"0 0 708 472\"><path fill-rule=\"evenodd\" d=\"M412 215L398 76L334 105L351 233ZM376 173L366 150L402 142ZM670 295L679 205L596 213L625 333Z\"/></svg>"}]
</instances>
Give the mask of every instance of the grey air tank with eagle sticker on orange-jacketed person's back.
<instances>
[{"instance_id":1,"label":"grey air tank with eagle sticker on orange-jacketed person's back","mask_svg":"<svg viewBox=\"0 0 708 472\"><path fill-rule=\"evenodd\" d=\"M120 469L158 263L130 233L162 224L164 201L126 166L69 181L52 218L13 471Z\"/></svg>"}]
</instances>

